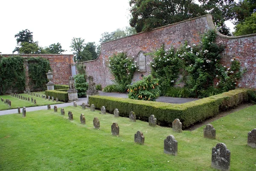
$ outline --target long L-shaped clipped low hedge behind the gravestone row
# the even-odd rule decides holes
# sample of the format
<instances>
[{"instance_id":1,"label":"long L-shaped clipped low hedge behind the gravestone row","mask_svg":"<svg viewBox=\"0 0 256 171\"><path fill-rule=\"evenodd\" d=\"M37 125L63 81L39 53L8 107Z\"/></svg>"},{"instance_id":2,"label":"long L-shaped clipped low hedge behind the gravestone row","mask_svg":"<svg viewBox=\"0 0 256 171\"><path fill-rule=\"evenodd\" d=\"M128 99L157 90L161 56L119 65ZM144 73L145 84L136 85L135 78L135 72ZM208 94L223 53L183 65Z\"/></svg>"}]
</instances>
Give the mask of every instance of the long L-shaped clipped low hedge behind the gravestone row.
<instances>
[{"instance_id":1,"label":"long L-shaped clipped low hedge behind the gravestone row","mask_svg":"<svg viewBox=\"0 0 256 171\"><path fill-rule=\"evenodd\" d=\"M89 104L113 113L117 108L119 115L128 117L134 111L137 119L148 121L150 115L157 118L158 125L172 126L174 119L180 119L183 128L215 116L221 110L227 110L248 100L248 89L236 89L215 96L183 104L170 104L156 101L140 101L108 96L90 96Z\"/></svg>"}]
</instances>

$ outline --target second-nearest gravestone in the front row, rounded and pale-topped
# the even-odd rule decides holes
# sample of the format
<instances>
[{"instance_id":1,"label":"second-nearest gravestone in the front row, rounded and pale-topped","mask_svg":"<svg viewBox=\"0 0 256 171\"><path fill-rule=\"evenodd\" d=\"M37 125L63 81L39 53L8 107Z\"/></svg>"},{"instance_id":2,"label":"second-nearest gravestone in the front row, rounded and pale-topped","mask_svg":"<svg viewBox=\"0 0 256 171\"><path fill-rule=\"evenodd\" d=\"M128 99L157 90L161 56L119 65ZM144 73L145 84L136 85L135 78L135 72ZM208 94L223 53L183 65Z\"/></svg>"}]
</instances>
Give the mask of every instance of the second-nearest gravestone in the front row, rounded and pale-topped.
<instances>
[{"instance_id":1,"label":"second-nearest gravestone in the front row, rounded and pale-topped","mask_svg":"<svg viewBox=\"0 0 256 171\"><path fill-rule=\"evenodd\" d=\"M173 135L167 136L163 142L163 152L166 154L172 154L177 156L178 154L178 142L175 140Z\"/></svg>"}]
</instances>

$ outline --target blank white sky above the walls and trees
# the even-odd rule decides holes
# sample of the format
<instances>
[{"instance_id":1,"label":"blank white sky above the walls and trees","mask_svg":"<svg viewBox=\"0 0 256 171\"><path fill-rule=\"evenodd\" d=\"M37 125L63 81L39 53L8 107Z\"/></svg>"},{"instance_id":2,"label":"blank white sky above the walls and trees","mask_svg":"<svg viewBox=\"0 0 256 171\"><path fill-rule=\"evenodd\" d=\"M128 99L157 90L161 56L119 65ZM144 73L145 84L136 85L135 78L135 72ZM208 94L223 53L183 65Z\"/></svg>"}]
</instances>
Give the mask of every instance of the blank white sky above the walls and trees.
<instances>
[{"instance_id":1,"label":"blank white sky above the walls and trees","mask_svg":"<svg viewBox=\"0 0 256 171\"><path fill-rule=\"evenodd\" d=\"M15 34L29 29L45 47L61 43L72 54L73 37L99 42L103 32L129 26L129 0L0 0L0 52L12 54Z\"/></svg>"}]
</instances>

